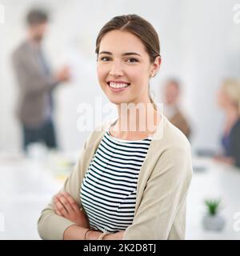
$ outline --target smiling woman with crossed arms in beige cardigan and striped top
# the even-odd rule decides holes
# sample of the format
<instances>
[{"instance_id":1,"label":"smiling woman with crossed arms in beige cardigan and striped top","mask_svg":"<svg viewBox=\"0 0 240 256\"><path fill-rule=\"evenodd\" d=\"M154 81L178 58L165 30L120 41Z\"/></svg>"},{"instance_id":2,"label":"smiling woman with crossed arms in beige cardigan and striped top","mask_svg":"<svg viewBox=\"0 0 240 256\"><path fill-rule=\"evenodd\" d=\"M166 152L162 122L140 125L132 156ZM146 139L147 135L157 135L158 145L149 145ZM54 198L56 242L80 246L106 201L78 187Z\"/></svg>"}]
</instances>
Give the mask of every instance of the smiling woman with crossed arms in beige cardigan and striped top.
<instances>
[{"instance_id":1,"label":"smiling woman with crossed arms in beige cardigan and striped top","mask_svg":"<svg viewBox=\"0 0 240 256\"><path fill-rule=\"evenodd\" d=\"M90 134L38 232L44 239L182 239L190 144L150 98L158 34L138 15L114 17L98 34L96 54L99 84L118 119Z\"/></svg>"}]
</instances>

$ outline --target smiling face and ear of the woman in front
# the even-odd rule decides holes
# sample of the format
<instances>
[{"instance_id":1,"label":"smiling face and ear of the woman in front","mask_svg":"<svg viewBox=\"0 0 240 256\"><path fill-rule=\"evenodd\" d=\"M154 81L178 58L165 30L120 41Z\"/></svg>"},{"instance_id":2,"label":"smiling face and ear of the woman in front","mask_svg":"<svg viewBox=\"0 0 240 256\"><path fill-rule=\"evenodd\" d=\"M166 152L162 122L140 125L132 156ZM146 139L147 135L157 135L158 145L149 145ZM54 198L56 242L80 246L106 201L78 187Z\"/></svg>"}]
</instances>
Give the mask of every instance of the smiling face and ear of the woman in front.
<instances>
[{"instance_id":1,"label":"smiling face and ear of the woman in front","mask_svg":"<svg viewBox=\"0 0 240 256\"><path fill-rule=\"evenodd\" d=\"M150 63L141 40L130 32L112 30L100 42L98 82L110 102L149 102L149 77L159 66L160 58Z\"/></svg>"}]
</instances>

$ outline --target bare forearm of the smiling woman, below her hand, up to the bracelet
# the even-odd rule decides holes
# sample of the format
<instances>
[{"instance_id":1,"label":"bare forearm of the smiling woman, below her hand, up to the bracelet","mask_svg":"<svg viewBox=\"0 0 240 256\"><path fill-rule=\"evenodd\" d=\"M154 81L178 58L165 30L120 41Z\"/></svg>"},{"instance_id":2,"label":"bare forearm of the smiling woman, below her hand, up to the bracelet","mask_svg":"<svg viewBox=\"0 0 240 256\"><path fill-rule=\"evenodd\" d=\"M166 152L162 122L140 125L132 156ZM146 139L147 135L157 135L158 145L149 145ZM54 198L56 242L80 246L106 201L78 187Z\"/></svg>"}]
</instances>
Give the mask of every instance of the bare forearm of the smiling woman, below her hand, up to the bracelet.
<instances>
[{"instance_id":1,"label":"bare forearm of the smiling woman, below her hand, up to the bracelet","mask_svg":"<svg viewBox=\"0 0 240 256\"><path fill-rule=\"evenodd\" d=\"M86 227L71 225L65 230L63 234L63 239L64 240L84 240L87 230L89 229L87 229ZM86 238L87 240L97 240L100 234L102 234L101 231L91 230L87 232Z\"/></svg>"}]
</instances>

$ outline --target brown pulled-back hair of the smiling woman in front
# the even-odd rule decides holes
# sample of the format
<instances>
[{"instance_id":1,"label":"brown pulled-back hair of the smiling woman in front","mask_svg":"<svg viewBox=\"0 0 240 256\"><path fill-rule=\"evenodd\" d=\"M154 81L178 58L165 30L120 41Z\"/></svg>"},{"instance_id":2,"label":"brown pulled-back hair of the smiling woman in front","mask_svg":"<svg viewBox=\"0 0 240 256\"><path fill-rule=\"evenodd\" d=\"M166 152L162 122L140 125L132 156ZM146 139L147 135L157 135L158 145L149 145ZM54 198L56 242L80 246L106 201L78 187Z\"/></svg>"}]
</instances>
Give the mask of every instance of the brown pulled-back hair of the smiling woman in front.
<instances>
[{"instance_id":1,"label":"brown pulled-back hair of the smiling woman in front","mask_svg":"<svg viewBox=\"0 0 240 256\"><path fill-rule=\"evenodd\" d=\"M106 24L98 33L95 49L96 54L99 53L99 46L103 36L111 30L124 30L137 36L145 46L151 63L153 63L155 58L157 58L158 56L161 57L158 33L150 24L150 22L147 22L144 18L141 18L137 14L116 16L110 19L109 22L106 22ZM150 102L152 102L154 104L154 108L157 109L157 106L151 98L150 94L149 97Z\"/></svg>"}]
</instances>

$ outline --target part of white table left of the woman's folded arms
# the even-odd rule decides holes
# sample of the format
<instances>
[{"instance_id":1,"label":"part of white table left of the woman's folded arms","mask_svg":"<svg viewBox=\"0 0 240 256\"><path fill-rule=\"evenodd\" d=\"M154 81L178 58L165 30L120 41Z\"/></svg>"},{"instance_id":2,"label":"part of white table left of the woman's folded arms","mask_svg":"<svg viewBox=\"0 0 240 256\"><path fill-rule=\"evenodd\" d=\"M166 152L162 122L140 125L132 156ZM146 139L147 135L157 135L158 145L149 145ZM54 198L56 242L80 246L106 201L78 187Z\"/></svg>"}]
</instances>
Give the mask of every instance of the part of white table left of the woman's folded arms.
<instances>
[{"instance_id":1,"label":"part of white table left of the woman's folded arms","mask_svg":"<svg viewBox=\"0 0 240 256\"><path fill-rule=\"evenodd\" d=\"M40 239L37 230L40 212L63 181L45 164L13 159L12 162L0 158L0 213L5 220L0 239Z\"/></svg>"}]
</instances>

